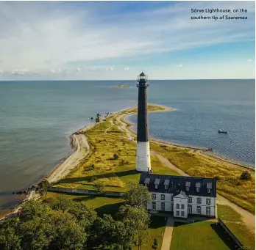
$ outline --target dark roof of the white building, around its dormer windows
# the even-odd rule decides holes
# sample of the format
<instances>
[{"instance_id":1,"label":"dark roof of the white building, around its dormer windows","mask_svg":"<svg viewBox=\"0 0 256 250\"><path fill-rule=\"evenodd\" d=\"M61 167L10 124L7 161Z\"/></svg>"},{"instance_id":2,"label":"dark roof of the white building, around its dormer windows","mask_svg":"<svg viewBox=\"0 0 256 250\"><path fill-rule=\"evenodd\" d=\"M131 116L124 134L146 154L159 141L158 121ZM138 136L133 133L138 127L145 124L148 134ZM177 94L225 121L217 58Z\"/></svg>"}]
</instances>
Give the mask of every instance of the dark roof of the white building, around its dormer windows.
<instances>
[{"instance_id":1,"label":"dark roof of the white building, around its dormer windows","mask_svg":"<svg viewBox=\"0 0 256 250\"><path fill-rule=\"evenodd\" d=\"M142 173L140 178L140 184L144 184L146 178L150 179L149 185L147 185L150 192L155 193L166 193L177 195L180 191L183 191L187 196L209 196L216 197L216 179L214 178L204 178L204 177L187 177L187 176L174 176L174 175L164 175L164 174L149 174ZM154 181L160 179L158 188L155 188ZM169 180L168 189L165 189L165 181ZM190 182L189 191L186 191L186 183ZM199 192L196 192L196 183L200 183ZM207 184L211 183L211 184ZM187 184L188 185L188 184ZM198 185L198 184L197 184ZM207 186L212 186L210 193L207 193Z\"/></svg>"}]
</instances>

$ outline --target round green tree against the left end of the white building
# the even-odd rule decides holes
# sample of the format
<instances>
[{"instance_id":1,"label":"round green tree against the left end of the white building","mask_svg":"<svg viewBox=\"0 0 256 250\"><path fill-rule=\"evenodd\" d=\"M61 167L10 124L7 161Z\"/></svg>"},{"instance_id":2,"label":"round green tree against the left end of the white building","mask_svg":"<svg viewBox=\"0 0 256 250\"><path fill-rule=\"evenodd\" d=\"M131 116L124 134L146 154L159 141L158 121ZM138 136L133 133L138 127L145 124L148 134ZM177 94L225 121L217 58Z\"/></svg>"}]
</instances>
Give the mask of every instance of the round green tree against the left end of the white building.
<instances>
[{"instance_id":1,"label":"round green tree against the left end of the white building","mask_svg":"<svg viewBox=\"0 0 256 250\"><path fill-rule=\"evenodd\" d=\"M131 189L124 194L124 201L127 205L146 207L151 195L144 185L132 185Z\"/></svg>"}]
</instances>

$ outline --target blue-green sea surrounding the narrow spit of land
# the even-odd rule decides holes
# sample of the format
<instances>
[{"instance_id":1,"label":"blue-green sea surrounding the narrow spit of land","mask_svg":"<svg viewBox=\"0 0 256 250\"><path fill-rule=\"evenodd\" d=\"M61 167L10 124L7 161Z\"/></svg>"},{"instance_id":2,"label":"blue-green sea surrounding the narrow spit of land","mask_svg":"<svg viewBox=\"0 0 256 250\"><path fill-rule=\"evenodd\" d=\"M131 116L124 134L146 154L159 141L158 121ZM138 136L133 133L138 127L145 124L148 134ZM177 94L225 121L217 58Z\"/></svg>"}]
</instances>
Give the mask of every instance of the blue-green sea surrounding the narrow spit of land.
<instances>
[{"instance_id":1,"label":"blue-green sea surrounding the narrow spit of land","mask_svg":"<svg viewBox=\"0 0 256 250\"><path fill-rule=\"evenodd\" d=\"M36 183L73 152L69 136L90 117L135 106L136 84L0 81L0 215L22 199L13 192ZM255 166L254 79L149 81L148 102L175 109L149 113L152 137L212 148L222 158ZM128 120L136 124L137 117Z\"/></svg>"}]
</instances>

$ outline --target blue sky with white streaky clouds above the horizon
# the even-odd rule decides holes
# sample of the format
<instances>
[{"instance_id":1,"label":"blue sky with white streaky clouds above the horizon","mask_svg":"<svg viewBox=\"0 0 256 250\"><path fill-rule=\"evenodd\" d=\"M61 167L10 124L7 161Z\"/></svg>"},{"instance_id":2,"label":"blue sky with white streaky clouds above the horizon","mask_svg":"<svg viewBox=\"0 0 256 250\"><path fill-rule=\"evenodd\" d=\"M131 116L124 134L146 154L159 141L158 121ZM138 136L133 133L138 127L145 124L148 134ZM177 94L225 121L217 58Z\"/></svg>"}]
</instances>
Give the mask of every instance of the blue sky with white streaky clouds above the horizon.
<instances>
[{"instance_id":1,"label":"blue sky with white streaky clouds above the horizon","mask_svg":"<svg viewBox=\"0 0 256 250\"><path fill-rule=\"evenodd\" d=\"M191 9L247 10L191 20ZM227 15L227 14L225 14ZM0 1L0 81L255 78L255 1Z\"/></svg>"}]
</instances>

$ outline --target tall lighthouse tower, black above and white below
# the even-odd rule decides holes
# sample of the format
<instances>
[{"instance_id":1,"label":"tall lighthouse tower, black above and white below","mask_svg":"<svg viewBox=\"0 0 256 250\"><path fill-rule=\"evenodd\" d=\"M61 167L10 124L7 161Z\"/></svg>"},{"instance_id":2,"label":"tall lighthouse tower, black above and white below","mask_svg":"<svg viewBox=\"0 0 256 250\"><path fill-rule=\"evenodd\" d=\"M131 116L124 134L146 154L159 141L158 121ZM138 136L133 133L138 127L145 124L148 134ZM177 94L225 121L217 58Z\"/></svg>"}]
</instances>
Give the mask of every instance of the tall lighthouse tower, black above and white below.
<instances>
[{"instance_id":1,"label":"tall lighthouse tower, black above and white below","mask_svg":"<svg viewBox=\"0 0 256 250\"><path fill-rule=\"evenodd\" d=\"M146 89L149 84L147 76L142 72L138 76L138 120L137 120L137 156L136 170L149 172L151 170L149 152L149 121Z\"/></svg>"}]
</instances>

